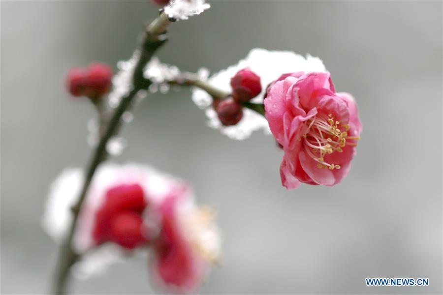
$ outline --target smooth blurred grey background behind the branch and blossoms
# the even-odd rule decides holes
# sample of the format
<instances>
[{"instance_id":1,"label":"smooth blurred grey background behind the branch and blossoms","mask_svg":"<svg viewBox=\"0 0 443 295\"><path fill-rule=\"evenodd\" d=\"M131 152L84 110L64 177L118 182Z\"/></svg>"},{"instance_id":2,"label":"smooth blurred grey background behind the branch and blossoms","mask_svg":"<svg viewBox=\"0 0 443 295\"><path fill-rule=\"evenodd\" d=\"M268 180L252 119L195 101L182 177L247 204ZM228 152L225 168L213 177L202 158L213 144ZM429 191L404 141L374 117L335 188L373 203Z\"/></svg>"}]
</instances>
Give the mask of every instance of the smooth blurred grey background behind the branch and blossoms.
<instances>
[{"instance_id":1,"label":"smooth blurred grey background behind the branch and blossoms","mask_svg":"<svg viewBox=\"0 0 443 295\"><path fill-rule=\"evenodd\" d=\"M202 294L442 294L442 2L210 1L170 28L162 61L212 72L250 49L320 57L363 122L349 176L332 188L282 187L282 151L205 125L190 91L134 110L115 162L184 177L218 210L223 259ZM158 6L141 1L1 1L1 293L49 292L57 247L40 228L51 181L84 166L86 102L67 69L128 59ZM75 281L75 294L151 293L146 260ZM429 287L366 287L366 277Z\"/></svg>"}]
</instances>

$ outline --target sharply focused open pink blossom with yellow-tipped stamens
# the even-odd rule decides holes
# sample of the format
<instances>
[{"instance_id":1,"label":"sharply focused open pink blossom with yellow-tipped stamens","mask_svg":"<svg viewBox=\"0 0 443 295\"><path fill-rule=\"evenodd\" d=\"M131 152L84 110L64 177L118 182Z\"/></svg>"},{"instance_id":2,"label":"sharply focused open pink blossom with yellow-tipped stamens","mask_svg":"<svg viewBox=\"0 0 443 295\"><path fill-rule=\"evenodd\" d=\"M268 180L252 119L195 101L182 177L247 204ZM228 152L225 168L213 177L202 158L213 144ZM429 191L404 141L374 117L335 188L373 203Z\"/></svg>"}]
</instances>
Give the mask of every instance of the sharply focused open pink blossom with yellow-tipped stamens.
<instances>
[{"instance_id":1,"label":"sharply focused open pink blossom with yellow-tipped stamens","mask_svg":"<svg viewBox=\"0 0 443 295\"><path fill-rule=\"evenodd\" d=\"M348 93L336 93L330 74L284 74L264 100L266 118L285 152L282 184L332 186L348 175L362 125Z\"/></svg>"}]
</instances>

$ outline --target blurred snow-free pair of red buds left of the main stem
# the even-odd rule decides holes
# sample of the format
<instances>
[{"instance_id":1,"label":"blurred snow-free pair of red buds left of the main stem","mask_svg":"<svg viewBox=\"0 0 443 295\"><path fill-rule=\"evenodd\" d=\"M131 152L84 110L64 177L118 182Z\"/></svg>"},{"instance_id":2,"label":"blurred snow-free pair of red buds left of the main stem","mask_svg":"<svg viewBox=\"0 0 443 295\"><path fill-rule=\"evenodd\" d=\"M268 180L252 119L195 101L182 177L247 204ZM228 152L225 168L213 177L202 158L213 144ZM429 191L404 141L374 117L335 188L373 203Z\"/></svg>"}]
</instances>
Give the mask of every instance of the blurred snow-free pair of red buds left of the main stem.
<instances>
[{"instance_id":1,"label":"blurred snow-free pair of red buds left of the main stem","mask_svg":"<svg viewBox=\"0 0 443 295\"><path fill-rule=\"evenodd\" d=\"M74 96L99 98L111 89L112 69L100 62L91 63L87 68L75 67L69 70L66 86Z\"/></svg>"}]
</instances>

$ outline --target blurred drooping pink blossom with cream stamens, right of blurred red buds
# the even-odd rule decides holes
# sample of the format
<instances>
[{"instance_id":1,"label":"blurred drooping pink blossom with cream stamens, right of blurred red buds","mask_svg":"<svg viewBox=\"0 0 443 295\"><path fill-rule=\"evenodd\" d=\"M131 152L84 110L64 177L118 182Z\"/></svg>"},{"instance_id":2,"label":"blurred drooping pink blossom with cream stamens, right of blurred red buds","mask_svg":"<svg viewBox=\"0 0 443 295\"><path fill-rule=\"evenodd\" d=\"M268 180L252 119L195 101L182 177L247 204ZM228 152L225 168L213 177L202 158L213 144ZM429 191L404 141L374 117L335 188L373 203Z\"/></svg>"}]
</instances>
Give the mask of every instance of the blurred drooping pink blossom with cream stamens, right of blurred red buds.
<instances>
[{"instance_id":1,"label":"blurred drooping pink blossom with cream stamens, right of blurred red buds","mask_svg":"<svg viewBox=\"0 0 443 295\"><path fill-rule=\"evenodd\" d=\"M181 294L195 293L208 262L216 262L219 256L211 225L212 210L195 207L188 213L183 212L187 194L186 187L177 187L159 206L162 226L152 263L157 280Z\"/></svg>"}]
</instances>

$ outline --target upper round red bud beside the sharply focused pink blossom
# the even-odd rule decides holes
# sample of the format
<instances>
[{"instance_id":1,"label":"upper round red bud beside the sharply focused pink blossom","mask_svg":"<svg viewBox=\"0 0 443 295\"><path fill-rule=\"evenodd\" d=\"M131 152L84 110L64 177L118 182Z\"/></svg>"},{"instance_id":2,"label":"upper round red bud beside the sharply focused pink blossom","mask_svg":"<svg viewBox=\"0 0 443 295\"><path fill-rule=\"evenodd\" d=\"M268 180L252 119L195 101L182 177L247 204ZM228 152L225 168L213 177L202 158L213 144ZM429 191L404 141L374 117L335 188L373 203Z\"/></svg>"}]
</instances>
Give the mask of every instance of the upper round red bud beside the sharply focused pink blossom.
<instances>
[{"instance_id":1,"label":"upper round red bud beside the sharply focused pink blossom","mask_svg":"<svg viewBox=\"0 0 443 295\"><path fill-rule=\"evenodd\" d=\"M260 77L248 68L240 70L231 78L231 87L235 101L250 101L261 92Z\"/></svg>"}]
</instances>

